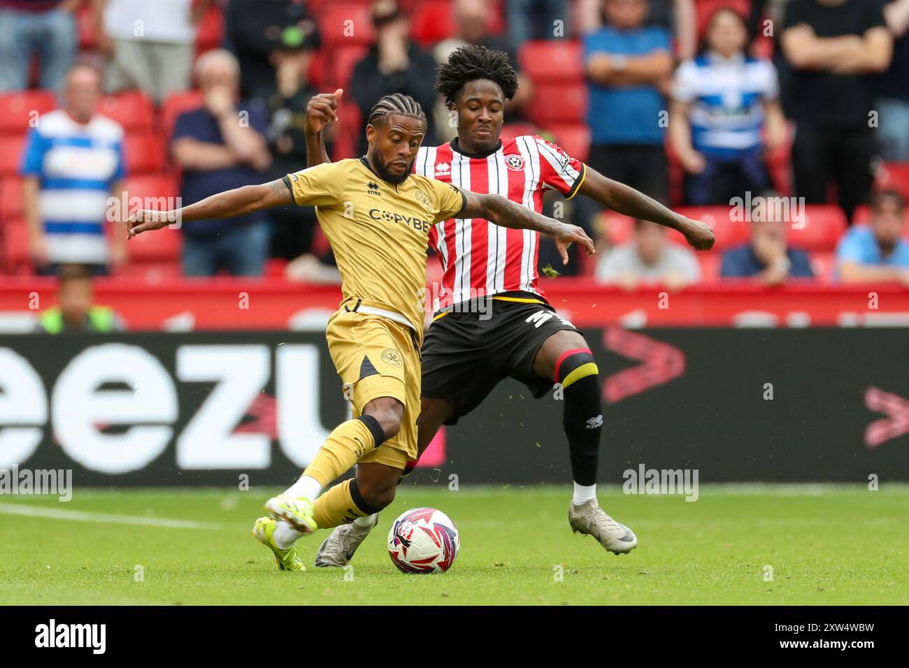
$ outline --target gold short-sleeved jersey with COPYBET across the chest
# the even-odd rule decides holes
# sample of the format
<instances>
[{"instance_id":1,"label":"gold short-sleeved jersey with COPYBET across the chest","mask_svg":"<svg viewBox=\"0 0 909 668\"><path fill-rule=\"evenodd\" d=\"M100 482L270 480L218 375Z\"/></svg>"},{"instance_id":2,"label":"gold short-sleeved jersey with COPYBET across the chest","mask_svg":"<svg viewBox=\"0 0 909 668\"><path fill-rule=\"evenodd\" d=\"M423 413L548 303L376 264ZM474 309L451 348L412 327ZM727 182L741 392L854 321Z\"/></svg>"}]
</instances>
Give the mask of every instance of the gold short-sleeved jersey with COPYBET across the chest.
<instances>
[{"instance_id":1,"label":"gold short-sleeved jersey with COPYBET across the chest","mask_svg":"<svg viewBox=\"0 0 909 668\"><path fill-rule=\"evenodd\" d=\"M403 315L422 334L429 231L461 211L461 191L418 174L389 184L365 158L287 174L285 183L296 204L315 205L341 273L341 304Z\"/></svg>"}]
</instances>

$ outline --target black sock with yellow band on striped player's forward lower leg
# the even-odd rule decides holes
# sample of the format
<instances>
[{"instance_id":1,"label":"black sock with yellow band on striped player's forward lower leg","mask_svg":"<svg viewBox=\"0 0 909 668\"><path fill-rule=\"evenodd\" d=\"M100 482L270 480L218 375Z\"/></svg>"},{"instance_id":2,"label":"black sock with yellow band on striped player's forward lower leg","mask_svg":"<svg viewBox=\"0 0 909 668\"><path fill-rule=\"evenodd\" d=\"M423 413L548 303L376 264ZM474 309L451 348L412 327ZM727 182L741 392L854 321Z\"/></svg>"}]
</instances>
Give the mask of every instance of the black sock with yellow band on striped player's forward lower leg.
<instances>
[{"instance_id":1,"label":"black sock with yellow band on striped player's forward lower leg","mask_svg":"<svg viewBox=\"0 0 909 668\"><path fill-rule=\"evenodd\" d=\"M596 469L603 431L598 369L593 354L579 348L566 351L559 358L555 373L564 400L563 427L574 479L573 502L581 504L596 498Z\"/></svg>"}]
</instances>

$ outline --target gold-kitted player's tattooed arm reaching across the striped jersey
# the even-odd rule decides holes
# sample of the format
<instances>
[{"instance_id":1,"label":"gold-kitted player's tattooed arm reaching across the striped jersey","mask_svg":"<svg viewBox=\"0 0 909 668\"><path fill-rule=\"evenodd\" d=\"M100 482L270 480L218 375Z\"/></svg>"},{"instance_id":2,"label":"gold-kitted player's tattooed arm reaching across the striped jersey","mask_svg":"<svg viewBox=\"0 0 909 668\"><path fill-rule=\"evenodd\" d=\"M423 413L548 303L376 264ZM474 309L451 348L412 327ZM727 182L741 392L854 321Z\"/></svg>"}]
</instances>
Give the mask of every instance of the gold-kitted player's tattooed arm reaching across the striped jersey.
<instances>
[{"instance_id":1,"label":"gold-kitted player's tattooed arm reaching across the striped jersey","mask_svg":"<svg viewBox=\"0 0 909 668\"><path fill-rule=\"evenodd\" d=\"M588 255L596 253L593 240L577 225L537 214L533 209L516 204L501 194L479 194L464 189L461 189L461 193L464 194L464 208L455 214L456 218L485 218L502 227L546 234L555 242L555 247L562 256L562 264L568 264L568 246L574 242L583 245Z\"/></svg>"}]
</instances>

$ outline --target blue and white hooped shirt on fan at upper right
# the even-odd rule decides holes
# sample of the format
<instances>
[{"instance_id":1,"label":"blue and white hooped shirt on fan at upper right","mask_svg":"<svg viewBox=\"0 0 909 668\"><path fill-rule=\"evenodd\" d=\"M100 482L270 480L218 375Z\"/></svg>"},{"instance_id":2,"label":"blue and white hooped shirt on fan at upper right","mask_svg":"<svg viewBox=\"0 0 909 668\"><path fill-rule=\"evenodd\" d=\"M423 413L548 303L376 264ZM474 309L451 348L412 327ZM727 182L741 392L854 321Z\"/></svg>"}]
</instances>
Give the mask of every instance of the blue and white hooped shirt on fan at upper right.
<instances>
[{"instance_id":1,"label":"blue and white hooped shirt on fan at upper right","mask_svg":"<svg viewBox=\"0 0 909 668\"><path fill-rule=\"evenodd\" d=\"M774 65L741 54L725 60L708 52L685 61L673 85L673 97L691 104L694 149L724 157L760 145L764 102L778 95Z\"/></svg>"}]
</instances>

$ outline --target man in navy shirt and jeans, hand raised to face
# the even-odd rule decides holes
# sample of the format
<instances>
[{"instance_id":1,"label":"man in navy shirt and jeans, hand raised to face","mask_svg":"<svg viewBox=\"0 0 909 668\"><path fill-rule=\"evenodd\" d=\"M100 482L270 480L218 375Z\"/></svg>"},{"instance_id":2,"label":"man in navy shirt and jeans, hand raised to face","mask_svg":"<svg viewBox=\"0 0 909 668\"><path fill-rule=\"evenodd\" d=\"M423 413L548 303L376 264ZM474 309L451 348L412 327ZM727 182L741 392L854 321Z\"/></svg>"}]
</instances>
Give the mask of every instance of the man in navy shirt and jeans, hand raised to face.
<instances>
[{"instance_id":1,"label":"man in navy shirt and jeans, hand raised to face","mask_svg":"<svg viewBox=\"0 0 909 668\"><path fill-rule=\"evenodd\" d=\"M205 97L201 109L176 119L171 151L183 169L183 200L193 204L223 190L258 184L271 165L265 132L265 105L239 100L240 70L229 51L201 55L195 75ZM214 276L261 276L268 257L265 212L225 220L185 223L183 271Z\"/></svg>"}]
</instances>

